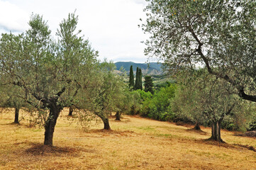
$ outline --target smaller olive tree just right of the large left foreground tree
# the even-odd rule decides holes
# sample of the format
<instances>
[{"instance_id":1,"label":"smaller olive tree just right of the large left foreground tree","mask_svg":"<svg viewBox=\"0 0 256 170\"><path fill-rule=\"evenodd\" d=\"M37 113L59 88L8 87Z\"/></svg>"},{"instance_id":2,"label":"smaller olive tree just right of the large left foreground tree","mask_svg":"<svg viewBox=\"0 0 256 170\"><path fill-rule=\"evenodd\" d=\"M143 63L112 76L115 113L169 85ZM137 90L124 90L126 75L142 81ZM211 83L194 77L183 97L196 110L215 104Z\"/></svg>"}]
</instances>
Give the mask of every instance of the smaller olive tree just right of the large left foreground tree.
<instances>
[{"instance_id":1,"label":"smaller olive tree just right of the large left foreground tree","mask_svg":"<svg viewBox=\"0 0 256 170\"><path fill-rule=\"evenodd\" d=\"M121 77L113 73L114 67L115 64L106 60L99 63L93 74L95 81L83 89L81 95L84 100L79 102L82 106L86 103L87 110L101 118L105 130L111 130L108 115L111 112L121 114L123 111L121 103L124 98L124 83Z\"/></svg>"}]
</instances>

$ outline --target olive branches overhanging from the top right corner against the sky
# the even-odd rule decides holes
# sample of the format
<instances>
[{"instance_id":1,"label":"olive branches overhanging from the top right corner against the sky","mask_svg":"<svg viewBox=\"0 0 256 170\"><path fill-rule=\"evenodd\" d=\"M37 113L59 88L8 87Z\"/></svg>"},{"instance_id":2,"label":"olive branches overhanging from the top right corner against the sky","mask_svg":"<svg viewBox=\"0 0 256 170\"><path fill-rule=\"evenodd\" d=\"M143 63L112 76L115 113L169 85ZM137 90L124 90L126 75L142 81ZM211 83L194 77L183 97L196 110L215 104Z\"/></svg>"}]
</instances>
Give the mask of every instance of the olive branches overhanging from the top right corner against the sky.
<instances>
[{"instance_id":1,"label":"olive branches overhanging from the top right corner against the sky","mask_svg":"<svg viewBox=\"0 0 256 170\"><path fill-rule=\"evenodd\" d=\"M206 67L256 102L256 2L146 0L145 54L173 70Z\"/></svg>"}]
</instances>

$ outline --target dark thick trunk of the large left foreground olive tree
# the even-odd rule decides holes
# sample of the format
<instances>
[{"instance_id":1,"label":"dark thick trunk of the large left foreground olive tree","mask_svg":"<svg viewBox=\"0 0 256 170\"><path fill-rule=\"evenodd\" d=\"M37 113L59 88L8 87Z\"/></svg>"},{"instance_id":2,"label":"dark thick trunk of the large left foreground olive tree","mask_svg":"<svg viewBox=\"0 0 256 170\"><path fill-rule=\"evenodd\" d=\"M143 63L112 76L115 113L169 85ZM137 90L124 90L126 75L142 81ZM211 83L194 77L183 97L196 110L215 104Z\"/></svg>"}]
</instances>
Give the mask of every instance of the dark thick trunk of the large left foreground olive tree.
<instances>
[{"instance_id":1,"label":"dark thick trunk of the large left foreground olive tree","mask_svg":"<svg viewBox=\"0 0 256 170\"><path fill-rule=\"evenodd\" d=\"M45 142L44 145L52 146L53 132L55 130L55 125L57 123L57 118L60 115L60 107L56 104L50 106L50 113L48 120L45 123Z\"/></svg>"}]
</instances>

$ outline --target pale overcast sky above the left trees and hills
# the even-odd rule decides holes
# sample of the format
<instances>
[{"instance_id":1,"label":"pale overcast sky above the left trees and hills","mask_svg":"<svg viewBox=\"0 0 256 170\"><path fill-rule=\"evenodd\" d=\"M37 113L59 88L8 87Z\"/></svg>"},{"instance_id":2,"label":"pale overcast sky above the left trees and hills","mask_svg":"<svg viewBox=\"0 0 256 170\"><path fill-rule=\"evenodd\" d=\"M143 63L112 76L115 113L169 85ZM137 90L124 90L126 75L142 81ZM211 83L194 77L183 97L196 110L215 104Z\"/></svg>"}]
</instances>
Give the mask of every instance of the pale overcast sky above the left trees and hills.
<instances>
[{"instance_id":1,"label":"pale overcast sky above the left trees and hills","mask_svg":"<svg viewBox=\"0 0 256 170\"><path fill-rule=\"evenodd\" d=\"M145 0L0 0L0 34L25 32L38 13L55 35L62 19L77 10L78 28L101 60L146 62L141 41L147 37L138 28L145 6Z\"/></svg>"}]
</instances>

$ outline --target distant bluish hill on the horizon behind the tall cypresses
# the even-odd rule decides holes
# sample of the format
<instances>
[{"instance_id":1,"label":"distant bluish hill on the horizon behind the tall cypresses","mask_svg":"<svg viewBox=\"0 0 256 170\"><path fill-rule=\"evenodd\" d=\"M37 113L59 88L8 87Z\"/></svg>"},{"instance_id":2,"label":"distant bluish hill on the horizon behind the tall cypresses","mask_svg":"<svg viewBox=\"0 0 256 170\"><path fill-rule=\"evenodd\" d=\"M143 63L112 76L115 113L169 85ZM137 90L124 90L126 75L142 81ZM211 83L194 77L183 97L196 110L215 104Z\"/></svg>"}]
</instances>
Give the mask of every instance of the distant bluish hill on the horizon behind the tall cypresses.
<instances>
[{"instance_id":1,"label":"distant bluish hill on the horizon behind the tall cypresses","mask_svg":"<svg viewBox=\"0 0 256 170\"><path fill-rule=\"evenodd\" d=\"M133 65L133 72L136 72L137 67L140 67L143 74L156 75L162 74L162 64L157 62L135 63L135 62L116 62L116 69L120 70L123 67L126 72L130 72L130 66Z\"/></svg>"}]
</instances>

